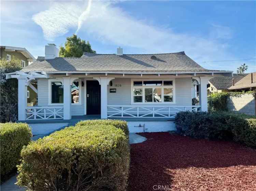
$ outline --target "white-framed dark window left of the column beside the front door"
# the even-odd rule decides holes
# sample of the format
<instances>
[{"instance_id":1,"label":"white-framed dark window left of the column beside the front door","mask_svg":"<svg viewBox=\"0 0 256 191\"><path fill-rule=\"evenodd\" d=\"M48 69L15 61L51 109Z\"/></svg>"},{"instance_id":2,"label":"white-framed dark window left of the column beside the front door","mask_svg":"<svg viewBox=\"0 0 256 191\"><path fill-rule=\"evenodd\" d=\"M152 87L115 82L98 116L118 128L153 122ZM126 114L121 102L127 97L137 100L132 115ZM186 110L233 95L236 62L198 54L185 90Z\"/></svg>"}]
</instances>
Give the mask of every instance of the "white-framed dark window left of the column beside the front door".
<instances>
[{"instance_id":1,"label":"white-framed dark window left of the column beside the front door","mask_svg":"<svg viewBox=\"0 0 256 191\"><path fill-rule=\"evenodd\" d=\"M63 105L64 86L61 79L48 80L48 104Z\"/></svg>"}]
</instances>

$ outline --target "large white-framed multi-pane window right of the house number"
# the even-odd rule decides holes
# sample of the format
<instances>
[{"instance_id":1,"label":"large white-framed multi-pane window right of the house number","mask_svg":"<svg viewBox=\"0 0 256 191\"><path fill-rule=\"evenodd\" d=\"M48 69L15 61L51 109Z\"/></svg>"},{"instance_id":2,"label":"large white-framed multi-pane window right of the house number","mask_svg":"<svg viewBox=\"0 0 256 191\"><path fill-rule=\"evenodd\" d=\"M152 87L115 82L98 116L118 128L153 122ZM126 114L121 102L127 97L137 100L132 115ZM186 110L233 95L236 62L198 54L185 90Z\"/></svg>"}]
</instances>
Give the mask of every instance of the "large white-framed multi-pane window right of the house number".
<instances>
[{"instance_id":1,"label":"large white-framed multi-pane window right of the house number","mask_svg":"<svg viewBox=\"0 0 256 191\"><path fill-rule=\"evenodd\" d=\"M131 79L131 103L175 103L175 79Z\"/></svg>"}]
</instances>

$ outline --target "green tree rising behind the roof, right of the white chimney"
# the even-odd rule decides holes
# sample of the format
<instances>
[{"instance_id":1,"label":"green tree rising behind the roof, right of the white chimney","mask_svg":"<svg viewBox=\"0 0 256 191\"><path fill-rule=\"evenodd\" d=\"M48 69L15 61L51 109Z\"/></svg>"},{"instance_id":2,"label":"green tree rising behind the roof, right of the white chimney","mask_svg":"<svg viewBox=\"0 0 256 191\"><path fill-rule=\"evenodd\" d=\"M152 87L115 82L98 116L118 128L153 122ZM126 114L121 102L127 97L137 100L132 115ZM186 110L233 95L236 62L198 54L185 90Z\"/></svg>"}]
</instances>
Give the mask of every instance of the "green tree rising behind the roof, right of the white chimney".
<instances>
[{"instance_id":1,"label":"green tree rising behind the roof, right of the white chimney","mask_svg":"<svg viewBox=\"0 0 256 191\"><path fill-rule=\"evenodd\" d=\"M81 40L77 38L75 34L67 37L65 47L60 46L59 56L60 57L81 57L83 52L96 53L95 50L91 49L89 41Z\"/></svg>"}]
</instances>

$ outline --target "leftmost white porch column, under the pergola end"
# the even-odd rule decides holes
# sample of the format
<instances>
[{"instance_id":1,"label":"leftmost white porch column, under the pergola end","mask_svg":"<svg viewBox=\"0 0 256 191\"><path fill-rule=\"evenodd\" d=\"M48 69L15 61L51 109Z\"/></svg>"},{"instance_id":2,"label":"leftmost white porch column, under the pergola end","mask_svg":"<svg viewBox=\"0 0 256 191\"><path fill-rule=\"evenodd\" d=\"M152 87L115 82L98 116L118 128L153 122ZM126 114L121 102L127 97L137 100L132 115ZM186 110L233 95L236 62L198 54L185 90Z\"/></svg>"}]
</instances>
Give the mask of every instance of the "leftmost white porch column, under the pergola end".
<instances>
[{"instance_id":1,"label":"leftmost white porch column, under the pergola end","mask_svg":"<svg viewBox=\"0 0 256 191\"><path fill-rule=\"evenodd\" d=\"M26 120L27 82L25 78L18 79L18 120Z\"/></svg>"}]
</instances>

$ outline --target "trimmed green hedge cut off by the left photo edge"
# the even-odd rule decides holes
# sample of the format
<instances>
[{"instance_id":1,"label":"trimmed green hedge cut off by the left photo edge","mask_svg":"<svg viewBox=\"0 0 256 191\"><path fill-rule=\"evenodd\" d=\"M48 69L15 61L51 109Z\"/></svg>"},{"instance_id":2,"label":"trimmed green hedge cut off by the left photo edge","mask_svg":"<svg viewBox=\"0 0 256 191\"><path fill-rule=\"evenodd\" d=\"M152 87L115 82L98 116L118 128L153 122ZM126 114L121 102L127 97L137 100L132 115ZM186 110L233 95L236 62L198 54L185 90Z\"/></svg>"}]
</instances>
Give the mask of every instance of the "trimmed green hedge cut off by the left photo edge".
<instances>
[{"instance_id":1,"label":"trimmed green hedge cut off by the left photo edge","mask_svg":"<svg viewBox=\"0 0 256 191\"><path fill-rule=\"evenodd\" d=\"M31 129L26 123L0 123L1 175L11 172L20 160L20 151L30 142Z\"/></svg>"}]
</instances>

